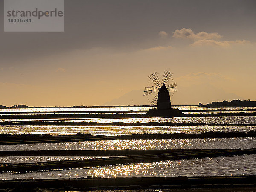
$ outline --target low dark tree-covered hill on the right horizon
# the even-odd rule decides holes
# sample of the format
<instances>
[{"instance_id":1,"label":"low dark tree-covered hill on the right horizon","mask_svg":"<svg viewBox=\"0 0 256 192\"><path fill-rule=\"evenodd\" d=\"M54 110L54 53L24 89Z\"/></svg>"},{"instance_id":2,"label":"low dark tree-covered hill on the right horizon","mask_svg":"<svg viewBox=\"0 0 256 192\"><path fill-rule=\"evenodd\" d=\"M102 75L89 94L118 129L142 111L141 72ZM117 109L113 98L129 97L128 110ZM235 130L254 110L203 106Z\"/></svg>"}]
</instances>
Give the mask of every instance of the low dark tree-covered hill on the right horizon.
<instances>
[{"instance_id":1,"label":"low dark tree-covered hill on the right horizon","mask_svg":"<svg viewBox=\"0 0 256 192\"><path fill-rule=\"evenodd\" d=\"M256 107L256 101L250 100L233 100L233 101L223 101L223 102L212 102L202 107Z\"/></svg>"}]
</instances>

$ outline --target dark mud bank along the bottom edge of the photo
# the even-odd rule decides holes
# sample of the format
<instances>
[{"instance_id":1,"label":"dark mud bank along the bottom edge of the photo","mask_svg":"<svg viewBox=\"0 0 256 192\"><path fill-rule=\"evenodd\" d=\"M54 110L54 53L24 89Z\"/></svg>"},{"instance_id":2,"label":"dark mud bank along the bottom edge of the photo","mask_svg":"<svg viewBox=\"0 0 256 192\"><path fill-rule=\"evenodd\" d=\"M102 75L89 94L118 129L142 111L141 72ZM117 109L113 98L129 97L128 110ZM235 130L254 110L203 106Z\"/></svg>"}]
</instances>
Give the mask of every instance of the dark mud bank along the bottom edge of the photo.
<instances>
[{"instance_id":1,"label":"dark mud bank along the bottom edge of the photo","mask_svg":"<svg viewBox=\"0 0 256 192\"><path fill-rule=\"evenodd\" d=\"M256 176L0 180L0 189L8 188L31 192L38 189L48 189L52 191L132 189L180 189L178 191L183 191L184 189L191 189L193 191L219 189L219 191L255 191Z\"/></svg>"}]
</instances>

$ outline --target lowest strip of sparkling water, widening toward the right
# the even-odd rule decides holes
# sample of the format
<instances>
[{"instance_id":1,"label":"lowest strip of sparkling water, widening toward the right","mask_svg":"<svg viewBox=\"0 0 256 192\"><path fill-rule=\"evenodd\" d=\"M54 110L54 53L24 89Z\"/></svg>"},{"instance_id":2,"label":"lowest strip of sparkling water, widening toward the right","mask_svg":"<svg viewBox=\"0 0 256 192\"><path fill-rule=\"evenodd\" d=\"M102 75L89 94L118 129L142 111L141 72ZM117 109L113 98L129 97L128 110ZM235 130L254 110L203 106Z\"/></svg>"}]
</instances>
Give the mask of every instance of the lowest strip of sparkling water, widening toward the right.
<instances>
[{"instance_id":1,"label":"lowest strip of sparkling water, widening toward the right","mask_svg":"<svg viewBox=\"0 0 256 192\"><path fill-rule=\"evenodd\" d=\"M239 163L238 163L239 162ZM98 177L171 177L256 175L256 155L215 157L203 159L131 163L84 169L52 170L26 173L0 173L2 179L79 178Z\"/></svg>"}]
</instances>

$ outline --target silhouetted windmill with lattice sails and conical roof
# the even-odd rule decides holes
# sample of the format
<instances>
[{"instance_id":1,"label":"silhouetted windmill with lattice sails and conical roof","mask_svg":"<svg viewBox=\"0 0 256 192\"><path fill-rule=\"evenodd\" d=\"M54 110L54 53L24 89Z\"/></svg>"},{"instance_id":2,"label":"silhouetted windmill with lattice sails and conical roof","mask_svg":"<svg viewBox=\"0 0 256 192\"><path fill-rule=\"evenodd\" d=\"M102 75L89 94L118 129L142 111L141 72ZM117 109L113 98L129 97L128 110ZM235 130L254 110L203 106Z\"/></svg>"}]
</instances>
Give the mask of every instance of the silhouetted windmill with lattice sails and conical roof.
<instances>
[{"instance_id":1,"label":"silhouetted windmill with lattice sails and conical roof","mask_svg":"<svg viewBox=\"0 0 256 192\"><path fill-rule=\"evenodd\" d=\"M160 83L157 72L152 73L148 76L151 81L154 83L155 86L152 87L145 87L144 89L144 96L149 95L152 93L156 93L153 101L150 105L156 105L157 109L171 109L171 100L170 100L170 91L176 92L177 90L177 83L172 83L166 86L169 79L172 77L172 73L165 70L163 73L163 79Z\"/></svg>"}]
</instances>

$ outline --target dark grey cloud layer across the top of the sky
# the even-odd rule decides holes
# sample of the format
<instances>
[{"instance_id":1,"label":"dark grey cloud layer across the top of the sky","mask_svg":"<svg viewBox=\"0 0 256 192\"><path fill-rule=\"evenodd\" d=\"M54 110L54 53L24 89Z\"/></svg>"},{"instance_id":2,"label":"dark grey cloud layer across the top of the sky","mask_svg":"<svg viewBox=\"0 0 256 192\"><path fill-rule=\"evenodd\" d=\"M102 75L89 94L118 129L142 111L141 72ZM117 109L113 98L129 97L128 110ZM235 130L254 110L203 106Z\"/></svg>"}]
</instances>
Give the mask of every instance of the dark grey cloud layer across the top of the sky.
<instances>
[{"instance_id":1,"label":"dark grey cloud layer across the top of the sky","mask_svg":"<svg viewBox=\"0 0 256 192\"><path fill-rule=\"evenodd\" d=\"M0 20L0 65L74 49L148 48L154 46L151 41L159 31L171 34L183 27L220 30L226 37L228 28L233 29L231 35L236 35L234 29L237 34L253 35L255 5L254 0L66 0L65 32L3 32Z\"/></svg>"}]
</instances>

